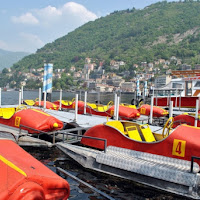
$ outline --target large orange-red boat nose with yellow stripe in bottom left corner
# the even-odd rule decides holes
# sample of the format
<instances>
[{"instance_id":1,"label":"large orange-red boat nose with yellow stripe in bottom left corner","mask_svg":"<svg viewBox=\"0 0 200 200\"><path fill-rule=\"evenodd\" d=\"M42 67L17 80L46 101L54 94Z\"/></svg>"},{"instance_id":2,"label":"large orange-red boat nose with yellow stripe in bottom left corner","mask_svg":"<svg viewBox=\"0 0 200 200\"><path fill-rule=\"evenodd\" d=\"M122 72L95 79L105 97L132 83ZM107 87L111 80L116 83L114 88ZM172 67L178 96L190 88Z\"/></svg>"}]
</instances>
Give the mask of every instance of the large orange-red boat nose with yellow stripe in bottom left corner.
<instances>
[{"instance_id":1,"label":"large orange-red boat nose with yellow stripe in bottom left corner","mask_svg":"<svg viewBox=\"0 0 200 200\"><path fill-rule=\"evenodd\" d=\"M67 200L70 187L10 140L0 140L1 200Z\"/></svg>"}]
</instances>

